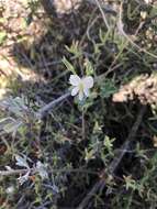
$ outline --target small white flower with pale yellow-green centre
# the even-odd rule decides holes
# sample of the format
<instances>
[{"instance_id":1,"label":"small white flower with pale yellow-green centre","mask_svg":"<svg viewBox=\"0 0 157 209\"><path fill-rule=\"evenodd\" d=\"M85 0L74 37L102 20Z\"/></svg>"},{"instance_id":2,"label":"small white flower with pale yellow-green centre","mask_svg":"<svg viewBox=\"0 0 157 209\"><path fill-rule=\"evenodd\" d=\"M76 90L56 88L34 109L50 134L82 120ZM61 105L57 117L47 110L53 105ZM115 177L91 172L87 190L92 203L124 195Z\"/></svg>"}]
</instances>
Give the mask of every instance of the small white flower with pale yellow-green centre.
<instances>
[{"instance_id":1,"label":"small white flower with pale yellow-green centre","mask_svg":"<svg viewBox=\"0 0 157 209\"><path fill-rule=\"evenodd\" d=\"M78 94L80 101L85 96L89 97L89 89L93 87L93 78L91 76L80 78L77 75L70 75L69 81L74 87L71 96L76 96Z\"/></svg>"}]
</instances>

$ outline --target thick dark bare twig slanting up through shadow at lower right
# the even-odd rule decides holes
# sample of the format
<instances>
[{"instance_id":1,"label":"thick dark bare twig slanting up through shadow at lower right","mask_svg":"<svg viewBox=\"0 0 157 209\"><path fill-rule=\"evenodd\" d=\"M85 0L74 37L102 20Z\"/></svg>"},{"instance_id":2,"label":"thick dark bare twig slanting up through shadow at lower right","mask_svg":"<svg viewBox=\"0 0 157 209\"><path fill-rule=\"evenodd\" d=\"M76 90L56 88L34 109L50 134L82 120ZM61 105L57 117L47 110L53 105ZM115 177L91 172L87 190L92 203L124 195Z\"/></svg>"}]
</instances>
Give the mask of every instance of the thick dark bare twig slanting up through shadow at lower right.
<instances>
[{"instance_id":1,"label":"thick dark bare twig slanting up through shadow at lower right","mask_svg":"<svg viewBox=\"0 0 157 209\"><path fill-rule=\"evenodd\" d=\"M134 125L133 125L133 128L132 128L132 130L131 130L131 132L130 132L130 134L128 134L127 140L125 141L125 143L124 143L124 144L122 145L122 147L121 147L121 150L123 150L123 152L120 153L119 156L116 155L115 158L111 162L111 164L110 164L110 166L109 166L109 174L110 174L110 175L112 175L112 176L114 175L114 172L115 172L115 169L117 168L117 166L120 165L120 163L121 163L121 161L122 161L124 154L125 154L126 151L128 150L131 142L134 140L134 138L135 138L135 135L136 135L136 132L137 132L137 130L138 130L138 128L139 128L139 124L141 124L141 122L142 122L142 119L143 119L143 117L144 117L145 110L146 110L146 107L143 107L143 108L141 109L141 111L139 111L139 113L138 113L138 116L137 116L137 119L136 119L136 121L135 121L135 123L134 123ZM106 170L103 169L101 176L105 176L105 172L106 172ZM93 185L93 187L91 188L91 190L88 193L88 195L85 197L85 199L81 201L81 204L78 206L77 209L85 209L85 208L87 208L89 200L90 200L99 190L102 190L102 189L104 188L104 186L105 186L104 179L101 178L100 180L98 180L98 182Z\"/></svg>"}]
</instances>

